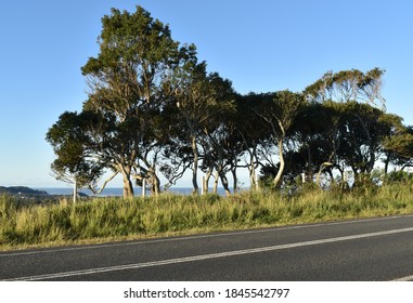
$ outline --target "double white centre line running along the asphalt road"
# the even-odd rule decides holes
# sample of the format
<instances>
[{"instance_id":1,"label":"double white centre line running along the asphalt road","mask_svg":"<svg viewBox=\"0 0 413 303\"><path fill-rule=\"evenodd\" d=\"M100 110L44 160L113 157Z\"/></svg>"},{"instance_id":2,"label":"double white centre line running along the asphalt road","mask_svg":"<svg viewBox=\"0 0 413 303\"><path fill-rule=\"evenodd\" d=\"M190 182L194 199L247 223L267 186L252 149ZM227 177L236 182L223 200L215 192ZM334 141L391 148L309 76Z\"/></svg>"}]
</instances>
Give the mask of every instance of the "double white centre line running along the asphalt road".
<instances>
[{"instance_id":1,"label":"double white centre line running along the asphalt road","mask_svg":"<svg viewBox=\"0 0 413 303\"><path fill-rule=\"evenodd\" d=\"M391 230L383 230L383 232L367 233L367 234L360 234L360 235L345 236L345 237L337 237L337 238L327 238L327 239L320 239L320 240L312 240L312 241L304 241L304 242L296 242L296 243L288 243L288 245L279 245L279 246L270 246L270 247L262 247L262 248L235 250L235 251L202 254L202 255L178 258L178 259L169 259L169 260L162 260L162 261L154 261L154 262L135 263L135 264L128 264L128 265L118 265L118 266L90 268L90 269L82 269L82 271L63 272L63 273L56 273L56 274L46 274L46 275L38 275L38 276L20 277L20 278L14 278L14 279L5 279L4 281L17 281L17 280L34 281L34 280L46 280L46 279L70 277L70 276L102 274L102 273L107 273L107 272L137 269L137 268L153 267L153 266L160 266L160 265L168 265L168 264L178 264L178 263L184 263L184 262L194 262L194 261L201 261L201 260L210 260L210 259L217 259L217 258L259 253L259 252L275 251L275 250L283 250L283 249L292 249L292 248L298 248L298 247L315 246L315 245L332 243L332 242L339 242L339 241L348 241L348 240L354 240L354 239L363 239L363 238L393 235L393 234L400 234L400 233L410 233L410 232L413 232L413 227L391 229Z\"/></svg>"}]
</instances>

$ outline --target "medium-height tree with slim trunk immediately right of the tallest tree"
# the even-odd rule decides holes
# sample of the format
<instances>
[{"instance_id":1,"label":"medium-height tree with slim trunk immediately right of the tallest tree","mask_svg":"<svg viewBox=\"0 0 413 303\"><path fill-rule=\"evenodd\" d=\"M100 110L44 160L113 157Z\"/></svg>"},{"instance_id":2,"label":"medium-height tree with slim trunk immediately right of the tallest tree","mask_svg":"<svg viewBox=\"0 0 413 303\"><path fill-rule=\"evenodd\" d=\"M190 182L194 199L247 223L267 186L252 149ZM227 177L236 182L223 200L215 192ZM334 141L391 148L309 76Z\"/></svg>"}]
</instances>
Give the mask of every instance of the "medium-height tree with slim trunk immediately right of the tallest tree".
<instances>
[{"instance_id":1,"label":"medium-height tree with slim trunk immediately right of the tallest tree","mask_svg":"<svg viewBox=\"0 0 413 303\"><path fill-rule=\"evenodd\" d=\"M205 62L189 61L183 68L176 70L168 88L172 91L169 113L175 113L176 144L170 150L175 159L191 161L193 194L199 193L198 169L201 161L208 156L209 146L203 147L204 136L217 127L217 119L225 115L232 105L234 91L232 83L222 79L218 73L207 73ZM186 146L186 148L181 148ZM182 154L191 148L191 155ZM204 154L202 154L204 152Z\"/></svg>"}]
</instances>

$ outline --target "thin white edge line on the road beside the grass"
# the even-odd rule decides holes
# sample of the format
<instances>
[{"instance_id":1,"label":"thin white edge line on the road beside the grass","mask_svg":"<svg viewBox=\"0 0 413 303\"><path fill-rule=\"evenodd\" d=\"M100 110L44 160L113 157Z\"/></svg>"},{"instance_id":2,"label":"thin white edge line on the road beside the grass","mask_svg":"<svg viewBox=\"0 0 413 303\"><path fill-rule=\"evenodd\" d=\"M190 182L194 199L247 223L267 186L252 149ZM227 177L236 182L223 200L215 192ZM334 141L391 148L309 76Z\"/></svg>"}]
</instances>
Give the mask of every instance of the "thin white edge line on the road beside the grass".
<instances>
[{"instance_id":1,"label":"thin white edge line on the road beside the grass","mask_svg":"<svg viewBox=\"0 0 413 303\"><path fill-rule=\"evenodd\" d=\"M299 229L299 228L307 228L307 227L344 225L344 224L393 220L393 219L411 218L411 216L413 218L413 215L393 215L393 216L340 221L340 222L331 222L331 223L302 224L302 225L274 227L274 228L266 228L266 229L254 229L254 230L241 230L241 232L207 234L207 235L197 235L197 236L162 238L162 239L154 239L154 240L147 240L146 239L146 240L138 240L138 241L131 241L131 242L94 245L94 246L79 246L79 247L60 248L60 249L51 249L51 250L36 250L36 251L21 251L21 252L15 251L15 252L11 252L11 253L0 253L0 258L2 258L2 256L16 256L16 255L28 255L28 254L53 253L53 252L65 252L65 251L77 251L77 250L89 250L89 249L101 249L101 248L112 248L112 247L120 247L120 246L137 246L137 245L146 245L146 243L184 241L184 240L194 240L194 239L204 239L204 238L218 238L218 237L225 237L225 236L232 236L232 235L236 236L236 235L260 234L260 233L269 233L269 232L274 232L274 230L288 230L288 229Z\"/></svg>"}]
</instances>

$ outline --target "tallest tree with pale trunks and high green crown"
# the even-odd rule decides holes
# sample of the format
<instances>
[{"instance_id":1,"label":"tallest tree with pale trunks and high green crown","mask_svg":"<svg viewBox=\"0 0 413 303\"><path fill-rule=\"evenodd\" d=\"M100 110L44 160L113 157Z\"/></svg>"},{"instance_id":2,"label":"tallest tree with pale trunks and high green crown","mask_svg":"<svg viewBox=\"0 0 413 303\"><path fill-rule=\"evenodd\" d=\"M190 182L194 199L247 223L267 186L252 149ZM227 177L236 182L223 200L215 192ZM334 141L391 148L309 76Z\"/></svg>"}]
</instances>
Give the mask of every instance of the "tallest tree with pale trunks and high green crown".
<instances>
[{"instance_id":1,"label":"tallest tree with pale trunks and high green crown","mask_svg":"<svg viewBox=\"0 0 413 303\"><path fill-rule=\"evenodd\" d=\"M99 44L98 56L90 57L81 71L90 87L83 109L109 117L113 123L100 155L121 173L124 197L133 196L133 177L149 177L157 193L165 134L156 117L163 110L164 83L194 55L194 47L181 47L169 27L141 6L134 13L112 9L102 18Z\"/></svg>"}]
</instances>

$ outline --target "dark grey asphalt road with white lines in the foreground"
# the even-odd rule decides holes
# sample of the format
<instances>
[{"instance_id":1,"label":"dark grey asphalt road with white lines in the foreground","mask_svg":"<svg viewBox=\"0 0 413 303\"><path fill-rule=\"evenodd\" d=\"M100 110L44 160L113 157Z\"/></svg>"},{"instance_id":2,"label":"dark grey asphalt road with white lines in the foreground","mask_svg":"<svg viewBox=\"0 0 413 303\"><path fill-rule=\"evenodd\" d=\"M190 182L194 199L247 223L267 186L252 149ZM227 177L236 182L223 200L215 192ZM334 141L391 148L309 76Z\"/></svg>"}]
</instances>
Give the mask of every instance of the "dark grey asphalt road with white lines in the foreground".
<instances>
[{"instance_id":1,"label":"dark grey asphalt road with white lines in the foreground","mask_svg":"<svg viewBox=\"0 0 413 303\"><path fill-rule=\"evenodd\" d=\"M413 215L0 253L0 280L413 280Z\"/></svg>"}]
</instances>

